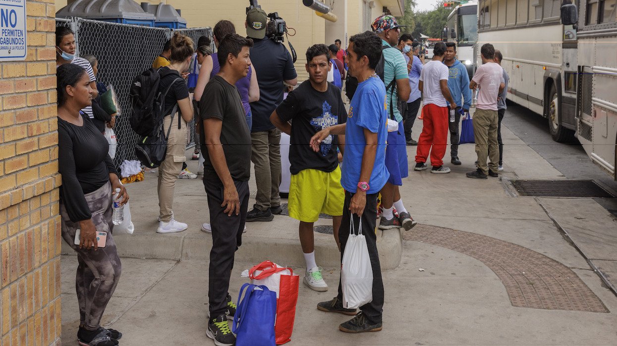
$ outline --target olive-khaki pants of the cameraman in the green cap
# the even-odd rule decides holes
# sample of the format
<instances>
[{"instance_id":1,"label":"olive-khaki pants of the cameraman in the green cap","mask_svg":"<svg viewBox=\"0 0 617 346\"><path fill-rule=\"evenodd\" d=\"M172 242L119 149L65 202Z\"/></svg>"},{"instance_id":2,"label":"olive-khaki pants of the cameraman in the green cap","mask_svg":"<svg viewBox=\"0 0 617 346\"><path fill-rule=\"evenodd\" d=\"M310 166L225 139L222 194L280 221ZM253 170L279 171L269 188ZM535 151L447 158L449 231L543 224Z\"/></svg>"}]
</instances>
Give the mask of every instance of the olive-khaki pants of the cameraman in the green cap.
<instances>
[{"instance_id":1,"label":"olive-khaki pants of the cameraman in the green cap","mask_svg":"<svg viewBox=\"0 0 617 346\"><path fill-rule=\"evenodd\" d=\"M281 205L281 131L271 129L251 133L251 161L255 164L257 194L255 206L266 211Z\"/></svg>"}]
</instances>

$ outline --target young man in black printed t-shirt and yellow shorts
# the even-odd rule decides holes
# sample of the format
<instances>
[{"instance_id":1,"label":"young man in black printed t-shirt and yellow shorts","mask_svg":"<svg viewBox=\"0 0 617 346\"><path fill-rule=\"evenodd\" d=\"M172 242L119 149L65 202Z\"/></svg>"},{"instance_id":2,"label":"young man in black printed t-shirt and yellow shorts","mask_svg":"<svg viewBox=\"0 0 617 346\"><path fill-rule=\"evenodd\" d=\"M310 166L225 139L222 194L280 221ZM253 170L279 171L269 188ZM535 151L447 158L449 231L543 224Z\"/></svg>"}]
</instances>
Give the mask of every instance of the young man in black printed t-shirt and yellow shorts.
<instances>
[{"instance_id":1,"label":"young man in black printed t-shirt and yellow shorts","mask_svg":"<svg viewBox=\"0 0 617 346\"><path fill-rule=\"evenodd\" d=\"M318 153L309 143L311 137L322 129L345 123L347 112L341 89L326 81L328 71L333 68L328 47L315 44L306 55L309 80L289 93L272 113L270 121L291 136L289 216L300 221L300 244L307 267L304 284L323 292L328 290L328 285L321 276L321 267L315 263L313 223L322 212L332 215L334 239L338 244L345 191L341 186L336 148L339 143L344 143L344 136L329 135L321 142Z\"/></svg>"}]
</instances>

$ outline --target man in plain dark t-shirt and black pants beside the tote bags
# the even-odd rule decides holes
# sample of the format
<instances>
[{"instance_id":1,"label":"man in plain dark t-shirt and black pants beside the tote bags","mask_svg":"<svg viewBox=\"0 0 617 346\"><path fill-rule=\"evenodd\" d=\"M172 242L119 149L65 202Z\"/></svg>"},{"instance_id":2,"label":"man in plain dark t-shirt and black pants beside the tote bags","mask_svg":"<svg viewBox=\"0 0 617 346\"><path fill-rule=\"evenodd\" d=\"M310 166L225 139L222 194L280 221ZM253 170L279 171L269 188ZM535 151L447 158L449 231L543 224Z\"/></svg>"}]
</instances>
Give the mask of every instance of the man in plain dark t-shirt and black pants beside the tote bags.
<instances>
[{"instance_id":1,"label":"man in plain dark t-shirt and black pants beside the tote bags","mask_svg":"<svg viewBox=\"0 0 617 346\"><path fill-rule=\"evenodd\" d=\"M221 70L210 79L199 103L203 121L204 187L208 195L212 250L209 268L209 321L207 336L217 345L233 345L227 317L236 305L228 292L234 252L242 244L242 230L249 206L251 135L236 88L246 77L251 39L228 34L218 46Z\"/></svg>"}]
</instances>

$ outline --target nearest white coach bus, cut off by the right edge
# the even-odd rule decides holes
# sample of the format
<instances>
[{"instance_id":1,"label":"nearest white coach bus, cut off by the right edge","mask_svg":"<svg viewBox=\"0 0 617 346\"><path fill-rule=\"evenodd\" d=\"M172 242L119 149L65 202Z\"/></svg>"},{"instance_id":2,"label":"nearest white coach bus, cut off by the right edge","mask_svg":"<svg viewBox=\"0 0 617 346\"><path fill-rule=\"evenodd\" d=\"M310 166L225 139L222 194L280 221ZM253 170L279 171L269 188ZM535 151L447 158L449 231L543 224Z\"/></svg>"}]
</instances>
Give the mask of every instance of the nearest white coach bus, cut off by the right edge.
<instances>
[{"instance_id":1,"label":"nearest white coach bus, cut off by the right edge","mask_svg":"<svg viewBox=\"0 0 617 346\"><path fill-rule=\"evenodd\" d=\"M564 54L566 92L576 95L576 137L595 164L617 180L617 0L579 0L562 9L564 23L578 23L573 54ZM565 43L564 43L565 44ZM564 49L565 50L565 49ZM578 78L577 78L578 76Z\"/></svg>"}]
</instances>

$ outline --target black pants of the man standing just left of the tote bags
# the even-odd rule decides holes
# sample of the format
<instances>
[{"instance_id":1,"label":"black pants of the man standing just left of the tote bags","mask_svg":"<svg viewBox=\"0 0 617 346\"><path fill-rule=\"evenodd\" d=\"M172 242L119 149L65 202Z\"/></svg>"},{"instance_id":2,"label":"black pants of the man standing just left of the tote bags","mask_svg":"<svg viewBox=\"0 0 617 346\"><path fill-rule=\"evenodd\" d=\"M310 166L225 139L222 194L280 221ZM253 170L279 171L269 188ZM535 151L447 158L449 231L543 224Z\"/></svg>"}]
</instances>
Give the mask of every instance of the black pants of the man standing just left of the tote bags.
<instances>
[{"instance_id":1,"label":"black pants of the man standing just left of the tote bags","mask_svg":"<svg viewBox=\"0 0 617 346\"><path fill-rule=\"evenodd\" d=\"M212 250L210 250L210 268L208 283L208 302L210 316L215 318L225 315L225 299L230 286L231 269L234 254L242 244L242 230L246 222L249 207L249 182L234 180L240 199L240 214L228 216L223 203L223 184L220 180L204 179L205 192L208 195L210 224L212 225Z\"/></svg>"}]
</instances>

